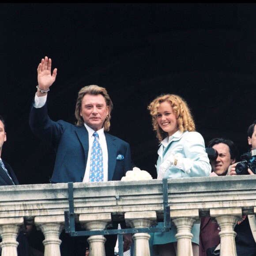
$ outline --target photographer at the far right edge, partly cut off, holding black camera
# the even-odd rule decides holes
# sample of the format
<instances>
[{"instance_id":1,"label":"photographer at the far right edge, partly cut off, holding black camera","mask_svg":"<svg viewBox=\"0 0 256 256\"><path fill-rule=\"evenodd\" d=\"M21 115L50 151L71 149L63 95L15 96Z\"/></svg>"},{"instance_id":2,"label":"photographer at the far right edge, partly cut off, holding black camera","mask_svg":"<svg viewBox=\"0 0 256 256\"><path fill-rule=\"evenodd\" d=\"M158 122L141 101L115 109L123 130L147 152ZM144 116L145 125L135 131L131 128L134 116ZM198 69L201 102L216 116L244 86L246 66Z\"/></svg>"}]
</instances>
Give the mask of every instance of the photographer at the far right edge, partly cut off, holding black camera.
<instances>
[{"instance_id":1,"label":"photographer at the far right edge, partly cut off, holding black camera","mask_svg":"<svg viewBox=\"0 0 256 256\"><path fill-rule=\"evenodd\" d=\"M256 120L249 126L248 131L248 144L250 145L250 152L252 156L255 154L253 150L256 149ZM256 161L252 158L251 161ZM230 175L237 175L236 166L234 163L230 166ZM253 164L249 164L253 167ZM256 169L249 169L245 174L254 175ZM241 222L238 222L234 228L237 233L235 237L237 256L255 256L256 255L256 220L254 215L244 215Z\"/></svg>"}]
</instances>

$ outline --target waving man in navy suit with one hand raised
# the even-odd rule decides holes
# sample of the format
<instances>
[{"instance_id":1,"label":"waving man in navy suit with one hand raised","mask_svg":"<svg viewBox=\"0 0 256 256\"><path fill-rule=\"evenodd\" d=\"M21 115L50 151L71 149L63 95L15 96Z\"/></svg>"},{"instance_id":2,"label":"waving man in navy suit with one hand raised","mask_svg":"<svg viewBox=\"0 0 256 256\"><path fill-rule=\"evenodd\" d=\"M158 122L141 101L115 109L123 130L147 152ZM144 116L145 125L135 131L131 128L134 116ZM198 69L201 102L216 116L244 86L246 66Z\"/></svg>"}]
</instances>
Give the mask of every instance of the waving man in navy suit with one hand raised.
<instances>
[{"instance_id":1,"label":"waving man in navy suit with one hand raised","mask_svg":"<svg viewBox=\"0 0 256 256\"><path fill-rule=\"evenodd\" d=\"M83 87L78 94L75 117L76 125L63 120L57 122L50 119L47 113L47 93L56 79L57 69L51 73L51 59L45 56L38 65L38 91L30 111L31 131L40 139L53 147L56 151L56 160L51 182L88 182L91 180L91 153L94 143L94 134L98 133L98 143L101 146L103 173L101 181L119 181L128 170L132 169L131 151L127 142L110 135L109 131L111 110L113 104L105 88L97 85ZM117 226L115 227L117 228ZM79 245L65 246L67 240L63 236L61 255L85 255L85 239ZM106 256L114 256L114 247L117 236L106 236ZM124 236L124 251L132 243L131 235ZM65 248L64 248L65 246ZM81 251L76 251L81 248ZM68 252L68 250L70 250Z\"/></svg>"}]
</instances>

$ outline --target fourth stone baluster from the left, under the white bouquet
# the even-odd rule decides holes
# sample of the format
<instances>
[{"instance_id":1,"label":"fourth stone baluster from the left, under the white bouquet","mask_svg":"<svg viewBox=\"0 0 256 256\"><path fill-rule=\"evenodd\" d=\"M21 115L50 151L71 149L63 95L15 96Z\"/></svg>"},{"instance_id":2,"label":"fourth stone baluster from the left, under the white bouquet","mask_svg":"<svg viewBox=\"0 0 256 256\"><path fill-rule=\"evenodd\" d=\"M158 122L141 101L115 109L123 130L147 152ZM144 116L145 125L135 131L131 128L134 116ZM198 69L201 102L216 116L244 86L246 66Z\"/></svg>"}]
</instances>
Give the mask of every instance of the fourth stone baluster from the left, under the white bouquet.
<instances>
[{"instance_id":1,"label":"fourth stone baluster from the left, under the white bouquet","mask_svg":"<svg viewBox=\"0 0 256 256\"><path fill-rule=\"evenodd\" d=\"M132 228L149 228L156 224L155 211L127 212L124 214L125 222ZM134 240L134 256L150 256L148 233L136 233L132 236Z\"/></svg>"}]
</instances>

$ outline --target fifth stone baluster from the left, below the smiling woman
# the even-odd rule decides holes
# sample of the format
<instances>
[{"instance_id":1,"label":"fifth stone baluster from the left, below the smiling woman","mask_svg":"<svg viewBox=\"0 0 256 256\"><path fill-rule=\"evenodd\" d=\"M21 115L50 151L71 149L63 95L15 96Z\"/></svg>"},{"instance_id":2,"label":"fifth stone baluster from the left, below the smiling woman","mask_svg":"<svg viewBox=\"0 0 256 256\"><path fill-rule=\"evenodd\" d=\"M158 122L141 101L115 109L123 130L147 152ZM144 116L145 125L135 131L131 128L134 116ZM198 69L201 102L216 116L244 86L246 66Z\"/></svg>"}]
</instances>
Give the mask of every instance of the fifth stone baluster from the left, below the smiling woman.
<instances>
[{"instance_id":1,"label":"fifth stone baluster from the left, below the smiling woman","mask_svg":"<svg viewBox=\"0 0 256 256\"><path fill-rule=\"evenodd\" d=\"M194 223L199 221L198 210L171 211L170 215L177 228L177 256L193 256L191 229Z\"/></svg>"}]
</instances>

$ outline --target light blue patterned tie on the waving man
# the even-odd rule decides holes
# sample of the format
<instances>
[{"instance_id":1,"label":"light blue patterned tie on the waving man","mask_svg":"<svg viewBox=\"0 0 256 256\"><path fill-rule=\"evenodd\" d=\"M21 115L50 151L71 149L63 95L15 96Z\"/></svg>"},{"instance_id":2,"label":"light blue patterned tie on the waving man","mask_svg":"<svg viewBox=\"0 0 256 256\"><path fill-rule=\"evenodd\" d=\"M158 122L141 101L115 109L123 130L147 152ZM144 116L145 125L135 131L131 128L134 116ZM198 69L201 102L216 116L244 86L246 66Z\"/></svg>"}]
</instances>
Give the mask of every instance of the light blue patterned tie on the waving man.
<instances>
[{"instance_id":1,"label":"light blue patterned tie on the waving man","mask_svg":"<svg viewBox=\"0 0 256 256\"><path fill-rule=\"evenodd\" d=\"M103 181L103 155L102 148L99 143L99 136L97 132L94 132L94 141L90 154L90 181L97 182Z\"/></svg>"}]
</instances>

